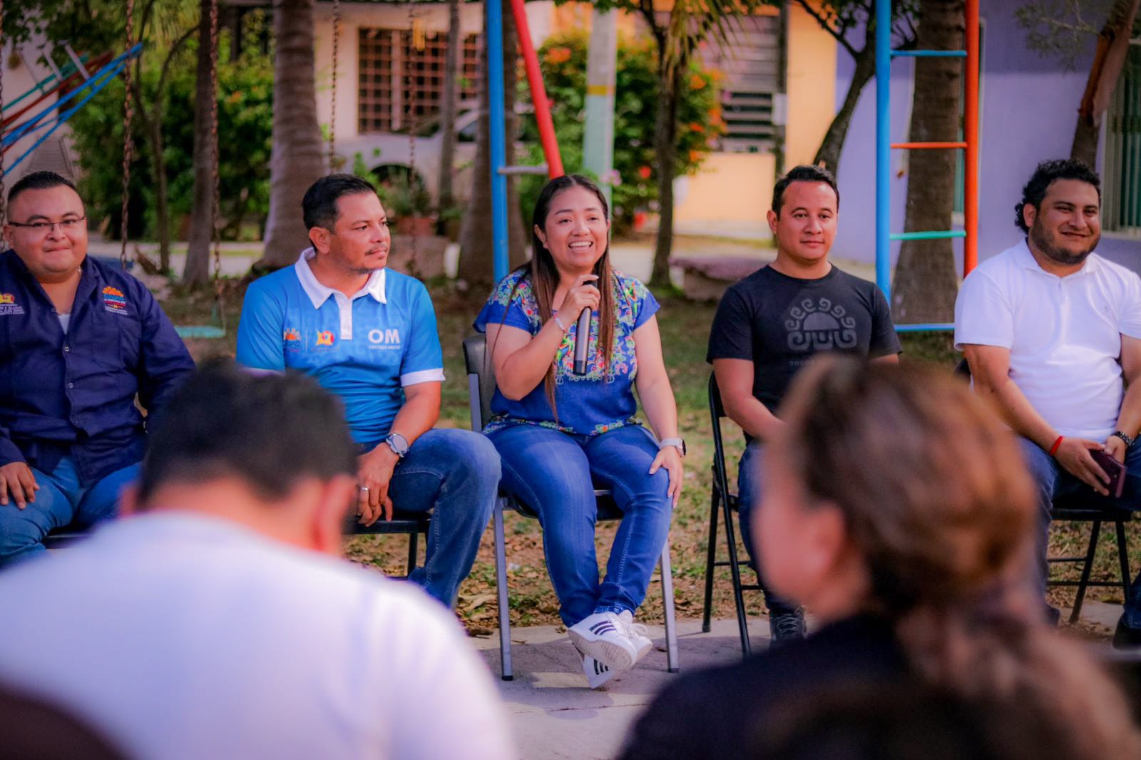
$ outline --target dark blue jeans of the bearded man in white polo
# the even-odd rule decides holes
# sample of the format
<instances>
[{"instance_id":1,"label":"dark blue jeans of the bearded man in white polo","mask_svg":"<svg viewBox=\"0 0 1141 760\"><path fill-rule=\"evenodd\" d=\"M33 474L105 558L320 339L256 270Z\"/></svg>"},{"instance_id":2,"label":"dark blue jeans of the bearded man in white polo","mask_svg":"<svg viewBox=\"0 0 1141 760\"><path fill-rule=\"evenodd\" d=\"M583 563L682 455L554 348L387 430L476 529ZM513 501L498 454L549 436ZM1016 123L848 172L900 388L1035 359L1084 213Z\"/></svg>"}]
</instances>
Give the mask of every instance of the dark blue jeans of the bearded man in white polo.
<instances>
[{"instance_id":1,"label":"dark blue jeans of the bearded man in white polo","mask_svg":"<svg viewBox=\"0 0 1141 760\"><path fill-rule=\"evenodd\" d=\"M1050 506L1054 499L1069 494L1083 494L1092 502L1115 504L1123 509L1138 509L1138 499L1141 498L1141 444L1134 443L1125 452L1125 488L1122 491L1120 500L1101 496L1090 486L1077 479L1061 466L1058 461L1042 450L1037 444L1027 438L1019 438L1022 445L1022 453L1026 464L1034 478L1038 496L1038 531L1035 536L1037 552L1035 563L1035 582L1037 591L1045 596L1046 579L1050 575L1050 565L1046 563L1046 548L1050 543ZM1134 579L1130 585L1128 598L1125 599L1125 613L1123 615L1125 624L1130 628L1141 629L1141 574Z\"/></svg>"}]
</instances>

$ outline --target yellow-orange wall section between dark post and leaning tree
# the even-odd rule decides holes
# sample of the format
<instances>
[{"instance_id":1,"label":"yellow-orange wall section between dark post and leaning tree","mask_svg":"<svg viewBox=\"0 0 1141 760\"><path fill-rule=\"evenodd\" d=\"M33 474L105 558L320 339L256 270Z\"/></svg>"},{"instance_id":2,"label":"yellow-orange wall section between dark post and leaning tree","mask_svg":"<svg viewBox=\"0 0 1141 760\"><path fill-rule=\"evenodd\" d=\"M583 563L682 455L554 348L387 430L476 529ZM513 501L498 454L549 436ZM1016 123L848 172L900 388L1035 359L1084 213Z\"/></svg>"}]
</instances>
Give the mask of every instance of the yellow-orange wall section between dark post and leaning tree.
<instances>
[{"instance_id":1,"label":"yellow-orange wall section between dark post and leaning tree","mask_svg":"<svg viewBox=\"0 0 1141 760\"><path fill-rule=\"evenodd\" d=\"M836 113L836 41L788 3L788 124L785 167L811 163Z\"/></svg>"}]
</instances>

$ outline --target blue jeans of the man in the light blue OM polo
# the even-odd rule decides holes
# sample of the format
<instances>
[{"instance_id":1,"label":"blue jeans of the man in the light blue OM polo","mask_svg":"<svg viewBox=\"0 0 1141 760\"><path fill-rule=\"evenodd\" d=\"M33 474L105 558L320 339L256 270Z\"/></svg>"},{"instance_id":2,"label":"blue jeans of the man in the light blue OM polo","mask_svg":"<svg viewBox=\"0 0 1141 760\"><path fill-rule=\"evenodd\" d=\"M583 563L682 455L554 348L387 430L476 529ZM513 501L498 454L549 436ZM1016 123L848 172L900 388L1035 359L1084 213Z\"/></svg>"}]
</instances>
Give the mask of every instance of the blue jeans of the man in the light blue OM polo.
<instances>
[{"instance_id":1,"label":"blue jeans of the man in the light blue OM polo","mask_svg":"<svg viewBox=\"0 0 1141 760\"><path fill-rule=\"evenodd\" d=\"M416 438L393 472L388 494L394 507L405 512L431 511L424 566L415 568L408 580L447 607L476 561L499 479L499 454L487 439L453 428L431 429Z\"/></svg>"}]
</instances>

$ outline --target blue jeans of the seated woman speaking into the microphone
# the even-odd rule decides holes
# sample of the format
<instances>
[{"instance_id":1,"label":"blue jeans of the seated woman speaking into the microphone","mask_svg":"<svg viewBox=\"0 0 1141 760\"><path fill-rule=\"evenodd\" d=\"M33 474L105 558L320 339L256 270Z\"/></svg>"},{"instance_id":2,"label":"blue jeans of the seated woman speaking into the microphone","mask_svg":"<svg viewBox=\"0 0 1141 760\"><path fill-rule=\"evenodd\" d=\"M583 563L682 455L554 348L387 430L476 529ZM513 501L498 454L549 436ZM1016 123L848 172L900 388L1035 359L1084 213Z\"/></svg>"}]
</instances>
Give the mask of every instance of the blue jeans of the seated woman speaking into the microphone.
<instances>
[{"instance_id":1,"label":"blue jeans of the seated woman speaking into the microphone","mask_svg":"<svg viewBox=\"0 0 1141 760\"><path fill-rule=\"evenodd\" d=\"M488 436L503 460L503 490L532 509L543 526L547 572L568 626L596 612L631 613L646 589L670 532L673 506L665 468L649 475L657 443L628 426L596 436L515 425ZM622 510L606 580L594 553L598 502L609 488Z\"/></svg>"}]
</instances>

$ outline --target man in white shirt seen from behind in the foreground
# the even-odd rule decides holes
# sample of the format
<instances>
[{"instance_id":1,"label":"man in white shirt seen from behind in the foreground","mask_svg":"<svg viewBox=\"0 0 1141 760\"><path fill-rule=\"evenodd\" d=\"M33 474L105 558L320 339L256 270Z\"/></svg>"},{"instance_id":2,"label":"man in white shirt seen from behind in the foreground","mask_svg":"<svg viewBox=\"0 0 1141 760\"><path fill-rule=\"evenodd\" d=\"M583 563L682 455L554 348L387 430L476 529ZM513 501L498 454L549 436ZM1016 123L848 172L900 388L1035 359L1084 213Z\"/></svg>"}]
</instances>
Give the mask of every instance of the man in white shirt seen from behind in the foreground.
<instances>
[{"instance_id":1,"label":"man in white shirt seen from behind in the foreground","mask_svg":"<svg viewBox=\"0 0 1141 760\"><path fill-rule=\"evenodd\" d=\"M0 682L128 758L518 757L455 618L335 557L357 490L335 398L226 361L148 432L127 517L0 574Z\"/></svg>"}]
</instances>

